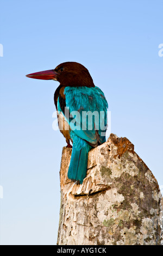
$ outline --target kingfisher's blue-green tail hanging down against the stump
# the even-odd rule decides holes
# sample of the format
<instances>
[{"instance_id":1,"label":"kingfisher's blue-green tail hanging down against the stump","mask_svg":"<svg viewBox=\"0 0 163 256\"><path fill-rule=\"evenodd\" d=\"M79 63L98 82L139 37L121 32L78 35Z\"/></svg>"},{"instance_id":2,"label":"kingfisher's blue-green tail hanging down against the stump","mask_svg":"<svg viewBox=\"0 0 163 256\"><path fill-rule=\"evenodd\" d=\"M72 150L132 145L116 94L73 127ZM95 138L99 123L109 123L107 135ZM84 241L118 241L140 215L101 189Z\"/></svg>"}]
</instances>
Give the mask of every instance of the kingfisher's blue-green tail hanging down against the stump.
<instances>
[{"instance_id":1,"label":"kingfisher's blue-green tail hanging down against the stump","mask_svg":"<svg viewBox=\"0 0 163 256\"><path fill-rule=\"evenodd\" d=\"M77 181L79 184L83 183L87 171L87 156L88 153L86 148L77 150L75 147L72 147L71 162L68 169L68 179Z\"/></svg>"}]
</instances>

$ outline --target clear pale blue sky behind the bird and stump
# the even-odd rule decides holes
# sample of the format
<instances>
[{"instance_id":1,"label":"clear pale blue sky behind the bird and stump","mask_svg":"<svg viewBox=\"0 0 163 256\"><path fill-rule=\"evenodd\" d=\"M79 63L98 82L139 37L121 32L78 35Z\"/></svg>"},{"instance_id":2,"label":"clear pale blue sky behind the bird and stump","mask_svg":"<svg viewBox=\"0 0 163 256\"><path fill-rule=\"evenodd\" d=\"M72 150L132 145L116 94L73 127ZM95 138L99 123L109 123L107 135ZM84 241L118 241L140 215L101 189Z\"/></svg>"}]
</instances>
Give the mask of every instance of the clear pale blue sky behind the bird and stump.
<instances>
[{"instance_id":1,"label":"clear pale blue sky behind the bird and stump","mask_svg":"<svg viewBox=\"0 0 163 256\"><path fill-rule=\"evenodd\" d=\"M163 1L1 0L0 9L1 244L55 245L66 145L52 129L59 83L26 75L85 65L108 100L111 132L135 145L162 186Z\"/></svg>"}]
</instances>

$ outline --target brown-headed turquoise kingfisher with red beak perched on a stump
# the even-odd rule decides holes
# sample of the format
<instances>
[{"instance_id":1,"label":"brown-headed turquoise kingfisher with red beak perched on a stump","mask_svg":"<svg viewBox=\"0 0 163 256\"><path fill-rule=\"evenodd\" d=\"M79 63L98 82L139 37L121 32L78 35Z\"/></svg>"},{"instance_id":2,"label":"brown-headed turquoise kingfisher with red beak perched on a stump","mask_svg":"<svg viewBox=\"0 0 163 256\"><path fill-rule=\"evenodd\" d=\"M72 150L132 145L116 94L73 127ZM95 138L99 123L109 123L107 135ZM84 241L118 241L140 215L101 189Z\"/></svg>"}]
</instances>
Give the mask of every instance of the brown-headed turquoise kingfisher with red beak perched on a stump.
<instances>
[{"instance_id":1,"label":"brown-headed turquoise kingfisher with red beak perched on a stump","mask_svg":"<svg viewBox=\"0 0 163 256\"><path fill-rule=\"evenodd\" d=\"M55 69L26 76L60 83L54 104L60 132L67 147L72 148L67 176L76 184L83 184L89 151L106 141L108 102L104 93L93 83L89 70L77 62L64 62Z\"/></svg>"}]
</instances>

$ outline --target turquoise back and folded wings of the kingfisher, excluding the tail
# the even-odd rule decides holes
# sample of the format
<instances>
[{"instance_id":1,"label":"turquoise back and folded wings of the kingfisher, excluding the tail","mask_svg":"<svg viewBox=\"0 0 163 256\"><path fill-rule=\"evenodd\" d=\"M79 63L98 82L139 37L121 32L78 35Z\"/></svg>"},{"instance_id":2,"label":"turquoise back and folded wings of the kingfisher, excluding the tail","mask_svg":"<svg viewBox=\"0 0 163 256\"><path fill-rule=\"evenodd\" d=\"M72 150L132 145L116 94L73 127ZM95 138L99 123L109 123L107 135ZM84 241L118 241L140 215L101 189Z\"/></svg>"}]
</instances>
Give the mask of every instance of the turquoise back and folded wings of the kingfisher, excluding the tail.
<instances>
[{"instance_id":1,"label":"turquoise back and folded wings of the kingfisher, excluding the tail","mask_svg":"<svg viewBox=\"0 0 163 256\"><path fill-rule=\"evenodd\" d=\"M66 107L73 115L73 117L65 117L72 129L71 137L75 134L90 143L92 147L96 147L98 142L102 144L105 141L108 108L102 90L98 87L66 87L64 94ZM58 111L61 111L59 101Z\"/></svg>"}]
</instances>

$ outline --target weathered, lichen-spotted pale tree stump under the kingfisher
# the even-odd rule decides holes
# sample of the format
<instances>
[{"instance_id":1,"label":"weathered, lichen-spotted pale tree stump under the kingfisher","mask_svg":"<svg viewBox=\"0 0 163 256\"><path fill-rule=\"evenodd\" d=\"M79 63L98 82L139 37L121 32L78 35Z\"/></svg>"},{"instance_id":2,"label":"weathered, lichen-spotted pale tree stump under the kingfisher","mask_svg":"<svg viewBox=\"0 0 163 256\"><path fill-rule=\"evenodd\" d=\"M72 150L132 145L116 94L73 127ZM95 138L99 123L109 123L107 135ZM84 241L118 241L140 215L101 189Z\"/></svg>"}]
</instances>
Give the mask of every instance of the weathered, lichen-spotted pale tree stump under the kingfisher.
<instances>
[{"instance_id":1,"label":"weathered, lichen-spotted pale tree stump under the kingfisher","mask_svg":"<svg viewBox=\"0 0 163 256\"><path fill-rule=\"evenodd\" d=\"M63 148L58 245L160 245L161 193L127 138L111 134L89 153L82 185L67 178Z\"/></svg>"}]
</instances>

